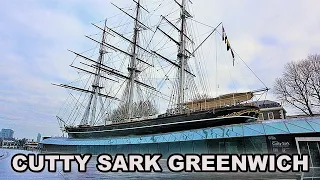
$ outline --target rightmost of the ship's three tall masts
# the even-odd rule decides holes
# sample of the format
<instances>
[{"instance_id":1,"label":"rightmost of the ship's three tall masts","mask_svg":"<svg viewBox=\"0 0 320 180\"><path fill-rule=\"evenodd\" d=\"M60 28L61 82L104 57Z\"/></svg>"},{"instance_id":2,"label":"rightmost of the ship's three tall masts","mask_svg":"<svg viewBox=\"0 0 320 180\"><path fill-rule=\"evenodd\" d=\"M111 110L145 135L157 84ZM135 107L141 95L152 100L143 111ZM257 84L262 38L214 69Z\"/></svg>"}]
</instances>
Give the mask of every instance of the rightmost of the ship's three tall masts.
<instances>
[{"instance_id":1,"label":"rightmost of the ship's three tall masts","mask_svg":"<svg viewBox=\"0 0 320 180\"><path fill-rule=\"evenodd\" d=\"M185 65L186 65L186 55L185 55L185 31L186 31L186 16L185 16L185 6L186 0L182 0L182 4L180 6L181 12L181 28L180 28L180 46L178 51L178 59L180 65L179 71L179 92L178 92L178 108L179 112L182 113L183 103L184 103L184 88L185 88Z\"/></svg>"}]
</instances>

